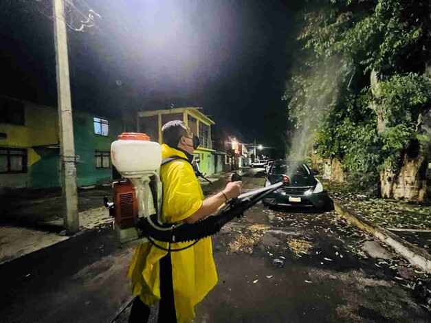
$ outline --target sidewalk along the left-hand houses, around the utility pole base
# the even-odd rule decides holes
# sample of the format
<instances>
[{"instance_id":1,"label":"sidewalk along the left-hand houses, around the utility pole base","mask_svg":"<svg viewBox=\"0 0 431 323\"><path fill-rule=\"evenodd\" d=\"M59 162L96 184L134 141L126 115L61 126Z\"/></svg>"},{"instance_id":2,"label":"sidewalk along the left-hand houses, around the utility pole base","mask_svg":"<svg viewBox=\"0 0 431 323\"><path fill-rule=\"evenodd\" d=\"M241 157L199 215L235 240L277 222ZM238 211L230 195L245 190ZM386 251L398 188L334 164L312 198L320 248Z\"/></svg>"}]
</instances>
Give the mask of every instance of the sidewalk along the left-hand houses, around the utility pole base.
<instances>
[{"instance_id":1,"label":"sidewalk along the left-hand houses, around the utility pole base","mask_svg":"<svg viewBox=\"0 0 431 323\"><path fill-rule=\"evenodd\" d=\"M231 176L232 172L211 175L208 179L212 184L199 179L204 194L221 190ZM104 196L111 199L111 194L111 187L78 190L78 235L112 225L102 201ZM73 237L66 236L63 230L63 200L58 189L2 195L0 205L0 265Z\"/></svg>"}]
</instances>

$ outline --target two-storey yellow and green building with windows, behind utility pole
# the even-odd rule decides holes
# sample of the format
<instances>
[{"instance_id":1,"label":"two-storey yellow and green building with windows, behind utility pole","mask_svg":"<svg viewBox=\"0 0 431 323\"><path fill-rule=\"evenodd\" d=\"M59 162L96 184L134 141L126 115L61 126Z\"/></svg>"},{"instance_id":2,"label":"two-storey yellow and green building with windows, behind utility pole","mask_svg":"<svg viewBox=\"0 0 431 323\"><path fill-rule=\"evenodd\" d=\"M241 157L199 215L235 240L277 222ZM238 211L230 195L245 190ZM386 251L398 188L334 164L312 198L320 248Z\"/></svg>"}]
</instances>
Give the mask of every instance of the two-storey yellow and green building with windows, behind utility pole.
<instances>
[{"instance_id":1,"label":"two-storey yellow and green building with windows, behind utility pole","mask_svg":"<svg viewBox=\"0 0 431 323\"><path fill-rule=\"evenodd\" d=\"M77 186L110 183L122 121L78 110L73 118ZM56 108L0 97L0 190L59 187L59 154Z\"/></svg>"}]
</instances>

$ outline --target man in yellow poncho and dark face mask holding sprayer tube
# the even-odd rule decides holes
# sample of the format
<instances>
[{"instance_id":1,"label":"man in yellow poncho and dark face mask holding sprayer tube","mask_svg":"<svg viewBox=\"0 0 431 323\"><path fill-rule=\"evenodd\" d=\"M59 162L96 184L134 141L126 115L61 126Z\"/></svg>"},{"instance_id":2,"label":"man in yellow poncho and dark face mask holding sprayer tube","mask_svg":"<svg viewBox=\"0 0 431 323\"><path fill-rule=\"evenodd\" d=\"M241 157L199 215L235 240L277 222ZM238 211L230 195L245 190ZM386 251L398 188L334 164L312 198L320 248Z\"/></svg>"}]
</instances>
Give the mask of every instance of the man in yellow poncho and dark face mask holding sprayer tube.
<instances>
[{"instance_id":1,"label":"man in yellow poncho and dark face mask holding sprayer tube","mask_svg":"<svg viewBox=\"0 0 431 323\"><path fill-rule=\"evenodd\" d=\"M193 171L192 153L199 146L186 124L175 120L162 128L162 158L179 156L160 168L163 183L162 218L166 223L195 223L214 214L226 200L241 194L242 182L228 183L225 189L204 199ZM143 243L135 250L129 268L133 295L129 322L147 322L150 307L159 302L158 322L190 322L195 318L195 305L217 283L212 258L211 238L196 244L157 242ZM176 249L181 249L177 250Z\"/></svg>"}]
</instances>

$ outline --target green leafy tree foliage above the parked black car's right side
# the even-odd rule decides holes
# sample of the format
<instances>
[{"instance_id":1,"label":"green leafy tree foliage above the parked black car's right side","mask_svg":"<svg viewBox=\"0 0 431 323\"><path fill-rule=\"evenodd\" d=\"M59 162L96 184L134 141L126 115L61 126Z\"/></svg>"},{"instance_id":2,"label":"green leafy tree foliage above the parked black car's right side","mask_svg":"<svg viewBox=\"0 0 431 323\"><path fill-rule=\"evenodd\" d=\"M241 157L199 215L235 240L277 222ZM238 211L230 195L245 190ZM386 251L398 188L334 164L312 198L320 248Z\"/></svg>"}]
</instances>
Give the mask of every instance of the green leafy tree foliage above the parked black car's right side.
<instances>
[{"instance_id":1,"label":"green leafy tree foliage above the parked black car's right side","mask_svg":"<svg viewBox=\"0 0 431 323\"><path fill-rule=\"evenodd\" d=\"M320 154L342 159L364 186L420 139L431 103L428 2L309 1L302 12L301 59L285 93L291 121L311 124Z\"/></svg>"}]
</instances>

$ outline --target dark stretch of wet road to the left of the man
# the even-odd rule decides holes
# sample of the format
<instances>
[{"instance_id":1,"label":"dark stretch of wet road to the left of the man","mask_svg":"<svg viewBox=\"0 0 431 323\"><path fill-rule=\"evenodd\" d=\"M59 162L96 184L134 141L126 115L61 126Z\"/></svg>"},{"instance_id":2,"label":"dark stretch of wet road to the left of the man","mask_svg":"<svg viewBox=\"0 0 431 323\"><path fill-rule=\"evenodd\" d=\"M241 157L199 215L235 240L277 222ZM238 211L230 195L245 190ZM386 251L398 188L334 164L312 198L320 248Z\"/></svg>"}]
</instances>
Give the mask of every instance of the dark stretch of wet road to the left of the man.
<instances>
[{"instance_id":1,"label":"dark stretch of wet road to the left of the man","mask_svg":"<svg viewBox=\"0 0 431 323\"><path fill-rule=\"evenodd\" d=\"M110 322L129 300L132 252L105 227L0 265L0 322Z\"/></svg>"}]
</instances>

